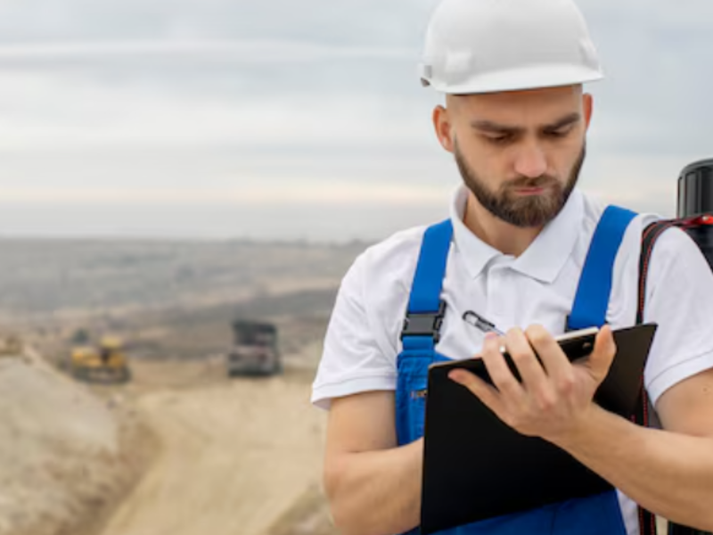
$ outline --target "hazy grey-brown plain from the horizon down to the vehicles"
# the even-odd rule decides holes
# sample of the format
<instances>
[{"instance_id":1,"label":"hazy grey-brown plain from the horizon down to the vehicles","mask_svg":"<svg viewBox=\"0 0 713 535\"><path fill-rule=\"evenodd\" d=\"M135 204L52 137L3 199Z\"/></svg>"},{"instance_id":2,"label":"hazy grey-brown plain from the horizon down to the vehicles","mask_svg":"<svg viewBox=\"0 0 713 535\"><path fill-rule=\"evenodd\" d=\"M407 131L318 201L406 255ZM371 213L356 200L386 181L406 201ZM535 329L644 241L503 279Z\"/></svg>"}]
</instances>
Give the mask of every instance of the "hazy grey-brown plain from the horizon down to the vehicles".
<instances>
[{"instance_id":1,"label":"hazy grey-brown plain from the horizon down to the vehicles","mask_svg":"<svg viewBox=\"0 0 713 535\"><path fill-rule=\"evenodd\" d=\"M0 327L61 359L115 333L134 356L201 358L236 318L274 321L283 351L324 335L341 277L365 243L0 241Z\"/></svg>"}]
</instances>

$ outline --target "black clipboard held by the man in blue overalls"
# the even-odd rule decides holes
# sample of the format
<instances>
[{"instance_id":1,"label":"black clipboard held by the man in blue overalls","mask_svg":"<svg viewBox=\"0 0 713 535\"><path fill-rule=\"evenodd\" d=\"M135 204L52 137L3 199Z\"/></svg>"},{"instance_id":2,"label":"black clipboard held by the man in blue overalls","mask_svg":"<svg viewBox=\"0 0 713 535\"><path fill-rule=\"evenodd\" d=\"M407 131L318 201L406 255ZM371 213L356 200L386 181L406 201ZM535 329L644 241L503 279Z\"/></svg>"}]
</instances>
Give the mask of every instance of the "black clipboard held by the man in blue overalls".
<instances>
[{"instance_id":1,"label":"black clipboard held by the man in blue overalls","mask_svg":"<svg viewBox=\"0 0 713 535\"><path fill-rule=\"evenodd\" d=\"M641 392L656 325L614 331L617 355L595 395L629 417ZM611 484L552 443L515 432L463 386L455 367L482 373L475 359L431 366L426 398L421 532L436 531L611 490Z\"/></svg>"}]
</instances>

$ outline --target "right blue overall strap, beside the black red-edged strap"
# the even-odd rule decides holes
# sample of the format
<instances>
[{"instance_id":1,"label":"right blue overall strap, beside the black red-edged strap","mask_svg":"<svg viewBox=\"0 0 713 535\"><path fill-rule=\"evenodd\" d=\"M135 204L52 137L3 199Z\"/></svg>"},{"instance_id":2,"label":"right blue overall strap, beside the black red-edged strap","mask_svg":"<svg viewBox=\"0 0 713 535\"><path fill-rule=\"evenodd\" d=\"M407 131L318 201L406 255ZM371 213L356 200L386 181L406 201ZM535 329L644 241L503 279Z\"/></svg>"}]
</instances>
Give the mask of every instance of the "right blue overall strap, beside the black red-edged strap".
<instances>
[{"instance_id":1,"label":"right blue overall strap, beside the black red-edged strap","mask_svg":"<svg viewBox=\"0 0 713 535\"><path fill-rule=\"evenodd\" d=\"M624 233L635 217L635 212L618 206L604 210L586 254L577 296L567 318L568 330L601 327L606 323L614 260Z\"/></svg>"}]
</instances>

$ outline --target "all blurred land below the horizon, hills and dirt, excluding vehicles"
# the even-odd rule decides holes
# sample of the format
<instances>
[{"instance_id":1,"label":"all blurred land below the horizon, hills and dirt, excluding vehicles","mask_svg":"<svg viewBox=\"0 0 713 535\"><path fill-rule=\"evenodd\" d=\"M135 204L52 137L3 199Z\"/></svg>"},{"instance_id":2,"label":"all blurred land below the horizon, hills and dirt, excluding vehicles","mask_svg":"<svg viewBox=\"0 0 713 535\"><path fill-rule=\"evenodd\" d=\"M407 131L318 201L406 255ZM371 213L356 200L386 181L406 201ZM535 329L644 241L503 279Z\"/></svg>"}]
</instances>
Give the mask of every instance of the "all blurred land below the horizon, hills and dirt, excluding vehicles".
<instances>
[{"instance_id":1,"label":"all blurred land below the horizon, hills and dirt, excluding vehicles","mask_svg":"<svg viewBox=\"0 0 713 535\"><path fill-rule=\"evenodd\" d=\"M0 533L332 533L309 391L365 243L2 247ZM276 326L280 373L229 374L235 320ZM107 336L130 377L76 375Z\"/></svg>"}]
</instances>

